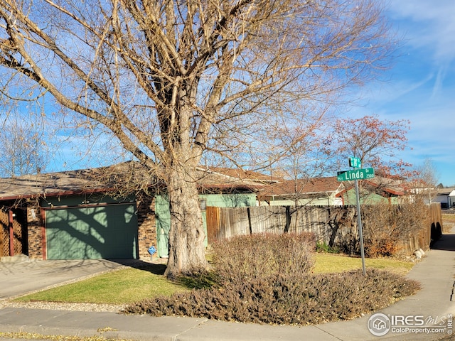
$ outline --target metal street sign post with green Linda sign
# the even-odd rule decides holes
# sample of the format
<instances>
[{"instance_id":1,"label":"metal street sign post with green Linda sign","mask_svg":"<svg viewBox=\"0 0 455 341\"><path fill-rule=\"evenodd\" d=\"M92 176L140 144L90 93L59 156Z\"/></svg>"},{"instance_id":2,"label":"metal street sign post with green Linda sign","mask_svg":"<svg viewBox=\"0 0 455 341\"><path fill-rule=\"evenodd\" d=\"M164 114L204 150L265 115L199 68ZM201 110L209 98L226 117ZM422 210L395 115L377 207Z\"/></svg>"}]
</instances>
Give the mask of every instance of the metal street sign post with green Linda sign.
<instances>
[{"instance_id":1,"label":"metal street sign post with green Linda sign","mask_svg":"<svg viewBox=\"0 0 455 341\"><path fill-rule=\"evenodd\" d=\"M373 168L360 168L362 162L360 158L349 158L349 166L355 169L350 171L338 172L336 179L338 181L349 181L354 180L355 183L355 200L357 203L357 216L358 216L358 238L360 239L360 256L362 256L362 271L363 276L366 275L365 269L365 250L363 248L363 227L362 227L362 216L360 215L360 195L358 193L358 180L370 179L375 177L375 171Z\"/></svg>"}]
</instances>

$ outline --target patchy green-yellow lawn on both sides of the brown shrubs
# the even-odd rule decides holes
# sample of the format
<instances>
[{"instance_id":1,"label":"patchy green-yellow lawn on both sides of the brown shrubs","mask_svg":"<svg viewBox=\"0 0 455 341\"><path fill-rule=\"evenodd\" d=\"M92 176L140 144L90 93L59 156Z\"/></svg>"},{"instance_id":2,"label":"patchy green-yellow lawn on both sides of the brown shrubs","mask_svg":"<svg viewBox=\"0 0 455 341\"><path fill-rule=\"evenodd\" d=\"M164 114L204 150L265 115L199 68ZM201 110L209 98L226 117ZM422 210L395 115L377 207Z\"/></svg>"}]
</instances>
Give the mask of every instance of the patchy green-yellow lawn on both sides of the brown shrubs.
<instances>
[{"instance_id":1,"label":"patchy green-yellow lawn on both sides of the brown shrubs","mask_svg":"<svg viewBox=\"0 0 455 341\"><path fill-rule=\"evenodd\" d=\"M338 254L315 254L314 273L360 269L360 258ZM394 259L367 259L366 266L406 274L412 263ZM198 283L175 283L163 277L164 265L151 264L141 269L122 269L57 288L51 288L16 301L54 301L76 303L128 304L177 291L189 290Z\"/></svg>"}]
</instances>

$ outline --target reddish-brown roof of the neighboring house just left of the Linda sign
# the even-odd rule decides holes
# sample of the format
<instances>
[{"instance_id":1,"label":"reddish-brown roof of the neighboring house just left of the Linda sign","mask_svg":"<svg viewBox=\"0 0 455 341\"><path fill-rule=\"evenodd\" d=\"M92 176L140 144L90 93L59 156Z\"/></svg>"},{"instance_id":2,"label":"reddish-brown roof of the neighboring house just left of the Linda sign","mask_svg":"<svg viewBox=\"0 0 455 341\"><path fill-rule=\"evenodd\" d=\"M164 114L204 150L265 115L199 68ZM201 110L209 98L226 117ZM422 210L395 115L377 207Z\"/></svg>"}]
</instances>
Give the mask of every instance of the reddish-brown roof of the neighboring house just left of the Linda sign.
<instances>
[{"instance_id":1,"label":"reddish-brown roof of the neighboring house just left of the Linda sign","mask_svg":"<svg viewBox=\"0 0 455 341\"><path fill-rule=\"evenodd\" d=\"M343 185L336 179L336 176L330 176L326 178L285 180L282 183L270 185L262 191L261 195L289 196L336 193L341 188L343 188Z\"/></svg>"}]
</instances>

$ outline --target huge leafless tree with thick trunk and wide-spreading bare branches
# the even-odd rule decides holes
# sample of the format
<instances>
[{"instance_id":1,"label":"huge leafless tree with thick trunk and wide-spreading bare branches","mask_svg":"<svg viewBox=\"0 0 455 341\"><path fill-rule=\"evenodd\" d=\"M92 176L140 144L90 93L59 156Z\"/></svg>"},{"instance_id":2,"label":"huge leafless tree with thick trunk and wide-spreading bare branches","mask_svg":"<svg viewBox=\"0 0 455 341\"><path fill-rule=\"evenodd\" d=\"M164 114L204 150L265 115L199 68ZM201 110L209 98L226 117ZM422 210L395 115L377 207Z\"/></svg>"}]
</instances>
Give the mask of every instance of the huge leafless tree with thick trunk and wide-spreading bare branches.
<instances>
[{"instance_id":1,"label":"huge leafless tree with thick trunk and wide-spreading bare branches","mask_svg":"<svg viewBox=\"0 0 455 341\"><path fill-rule=\"evenodd\" d=\"M166 183L168 276L206 266L203 155L272 162L285 152L269 153L277 124L305 116L297 104L336 102L392 45L375 0L4 0L0 18L4 75L40 85L34 95Z\"/></svg>"}]
</instances>

